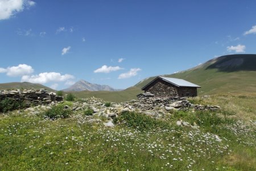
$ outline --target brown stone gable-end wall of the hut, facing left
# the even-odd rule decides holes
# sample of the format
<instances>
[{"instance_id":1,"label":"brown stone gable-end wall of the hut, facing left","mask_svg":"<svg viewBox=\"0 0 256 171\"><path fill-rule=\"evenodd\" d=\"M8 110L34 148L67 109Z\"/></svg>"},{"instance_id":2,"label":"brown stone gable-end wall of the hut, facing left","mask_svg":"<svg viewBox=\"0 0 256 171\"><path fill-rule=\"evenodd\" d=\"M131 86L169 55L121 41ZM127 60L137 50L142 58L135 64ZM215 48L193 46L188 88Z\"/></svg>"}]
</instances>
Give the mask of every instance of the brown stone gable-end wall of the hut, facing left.
<instances>
[{"instance_id":1,"label":"brown stone gable-end wall of the hut, facing left","mask_svg":"<svg viewBox=\"0 0 256 171\"><path fill-rule=\"evenodd\" d=\"M178 95L177 87L161 79L156 79L151 85L144 89L145 92L154 94L154 97L176 97Z\"/></svg>"}]
</instances>

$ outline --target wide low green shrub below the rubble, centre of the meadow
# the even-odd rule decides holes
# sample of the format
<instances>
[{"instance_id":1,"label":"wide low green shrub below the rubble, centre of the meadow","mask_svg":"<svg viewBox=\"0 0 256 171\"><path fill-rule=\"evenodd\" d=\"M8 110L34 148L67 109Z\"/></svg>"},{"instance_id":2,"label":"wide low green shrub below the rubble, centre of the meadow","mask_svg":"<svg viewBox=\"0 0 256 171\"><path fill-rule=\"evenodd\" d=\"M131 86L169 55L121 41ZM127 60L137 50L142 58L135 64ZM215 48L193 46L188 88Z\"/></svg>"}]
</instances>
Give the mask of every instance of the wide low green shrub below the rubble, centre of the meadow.
<instances>
[{"instance_id":1,"label":"wide low green shrub below the rubble, centre of the meadow","mask_svg":"<svg viewBox=\"0 0 256 171\"><path fill-rule=\"evenodd\" d=\"M151 118L146 114L129 111L121 112L119 117L114 119L114 123L125 123L128 127L137 128L141 131L171 128L170 124L162 120Z\"/></svg>"}]
</instances>

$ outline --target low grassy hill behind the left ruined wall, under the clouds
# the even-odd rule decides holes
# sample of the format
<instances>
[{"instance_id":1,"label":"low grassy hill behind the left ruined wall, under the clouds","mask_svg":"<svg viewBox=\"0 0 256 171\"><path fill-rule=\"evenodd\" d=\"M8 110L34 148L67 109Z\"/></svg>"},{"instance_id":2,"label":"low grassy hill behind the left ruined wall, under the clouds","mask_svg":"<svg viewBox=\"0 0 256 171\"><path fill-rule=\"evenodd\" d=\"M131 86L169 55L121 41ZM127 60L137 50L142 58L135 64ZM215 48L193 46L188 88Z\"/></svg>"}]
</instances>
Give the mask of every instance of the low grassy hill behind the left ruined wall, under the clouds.
<instances>
[{"instance_id":1,"label":"low grassy hill behind the left ruined wall, under the clouds","mask_svg":"<svg viewBox=\"0 0 256 171\"><path fill-rule=\"evenodd\" d=\"M42 84L32 84L30 82L10 82L0 84L0 90L13 90L13 89L46 89L48 91L56 91Z\"/></svg>"}]
</instances>

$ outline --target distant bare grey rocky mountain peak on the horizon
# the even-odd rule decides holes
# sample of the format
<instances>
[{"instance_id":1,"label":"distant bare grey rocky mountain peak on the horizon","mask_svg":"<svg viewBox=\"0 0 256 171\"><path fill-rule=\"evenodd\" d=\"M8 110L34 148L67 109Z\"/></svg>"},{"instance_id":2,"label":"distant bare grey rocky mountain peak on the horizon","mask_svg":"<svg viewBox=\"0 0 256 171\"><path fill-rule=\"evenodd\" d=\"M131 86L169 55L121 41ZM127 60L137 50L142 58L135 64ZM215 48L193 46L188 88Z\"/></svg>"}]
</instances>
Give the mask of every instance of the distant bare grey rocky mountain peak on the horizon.
<instances>
[{"instance_id":1,"label":"distant bare grey rocky mountain peak on the horizon","mask_svg":"<svg viewBox=\"0 0 256 171\"><path fill-rule=\"evenodd\" d=\"M90 82L87 82L85 80L77 81L72 86L68 87L67 89L64 89L63 91L119 91L119 89L114 89L113 87L110 87L108 85L99 85L99 84L92 84Z\"/></svg>"}]
</instances>

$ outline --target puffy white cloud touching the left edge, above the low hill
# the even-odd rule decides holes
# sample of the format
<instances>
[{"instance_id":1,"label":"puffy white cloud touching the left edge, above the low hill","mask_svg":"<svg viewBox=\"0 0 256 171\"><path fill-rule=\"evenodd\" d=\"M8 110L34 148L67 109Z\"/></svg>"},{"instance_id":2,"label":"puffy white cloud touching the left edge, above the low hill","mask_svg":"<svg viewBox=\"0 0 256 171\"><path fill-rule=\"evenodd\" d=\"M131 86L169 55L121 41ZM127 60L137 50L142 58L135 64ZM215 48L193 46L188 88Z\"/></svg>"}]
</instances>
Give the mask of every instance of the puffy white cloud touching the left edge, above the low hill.
<instances>
[{"instance_id":1,"label":"puffy white cloud touching the left edge, above the low hill","mask_svg":"<svg viewBox=\"0 0 256 171\"><path fill-rule=\"evenodd\" d=\"M6 73L10 77L24 76L26 74L31 74L34 69L30 65L19 64L18 66L9 66L8 68L0 68L0 73Z\"/></svg>"}]
</instances>

